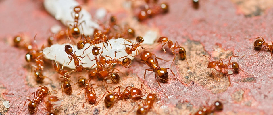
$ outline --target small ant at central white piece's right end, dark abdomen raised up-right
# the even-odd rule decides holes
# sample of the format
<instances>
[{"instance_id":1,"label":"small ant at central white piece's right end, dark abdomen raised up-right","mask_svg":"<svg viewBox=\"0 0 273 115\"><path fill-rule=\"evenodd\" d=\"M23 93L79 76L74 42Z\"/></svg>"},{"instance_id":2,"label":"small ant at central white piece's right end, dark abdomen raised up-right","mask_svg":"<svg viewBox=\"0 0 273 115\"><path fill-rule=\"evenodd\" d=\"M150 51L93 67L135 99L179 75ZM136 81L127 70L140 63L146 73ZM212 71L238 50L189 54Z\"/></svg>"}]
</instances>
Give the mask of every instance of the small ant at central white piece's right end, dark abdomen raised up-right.
<instances>
[{"instance_id":1,"label":"small ant at central white piece's right end, dark abdomen raised up-right","mask_svg":"<svg viewBox=\"0 0 273 115\"><path fill-rule=\"evenodd\" d=\"M128 39L125 39L125 40L128 41L128 42L130 42L130 43L132 43L132 41L130 41L130 40L128 40ZM127 54L129 54L129 55L131 55L131 54L133 53L133 51L136 51L136 55L137 55L137 51L139 52L139 50L137 49L138 47L141 47L142 49L144 49L144 48L140 45L140 44L143 43L143 41L144 41L143 37L141 37L141 36L136 37L136 41L137 41L138 43L132 43L132 45L125 44L125 40L124 40L124 45L125 45L125 47L126 47L126 45L131 46L131 48L130 48L130 47L126 47L126 48L125 48L125 52L126 52ZM132 55L131 55L131 56L132 56ZM133 57L134 57L134 56L133 56Z\"/></svg>"}]
</instances>

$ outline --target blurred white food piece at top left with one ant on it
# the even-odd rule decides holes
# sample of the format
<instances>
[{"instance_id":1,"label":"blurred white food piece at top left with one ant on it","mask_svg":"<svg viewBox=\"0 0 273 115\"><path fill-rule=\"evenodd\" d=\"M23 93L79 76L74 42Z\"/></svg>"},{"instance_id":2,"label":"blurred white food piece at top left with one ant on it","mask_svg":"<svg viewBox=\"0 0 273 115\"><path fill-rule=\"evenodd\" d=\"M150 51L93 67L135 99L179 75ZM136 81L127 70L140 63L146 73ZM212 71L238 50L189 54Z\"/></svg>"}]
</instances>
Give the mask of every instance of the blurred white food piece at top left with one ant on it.
<instances>
[{"instance_id":1,"label":"blurred white food piece at top left with one ant on it","mask_svg":"<svg viewBox=\"0 0 273 115\"><path fill-rule=\"evenodd\" d=\"M69 24L72 26L74 25L74 7L79 5L80 4L75 0L44 0L46 11L54 16L56 20L60 20L67 27ZM94 28L99 28L99 24L92 20L91 14L89 14L85 9L82 8L79 14L80 19L78 24L85 20L85 23L82 23L80 26L78 25L80 33L92 35ZM71 28L72 27L70 26L70 29Z\"/></svg>"}]
</instances>

